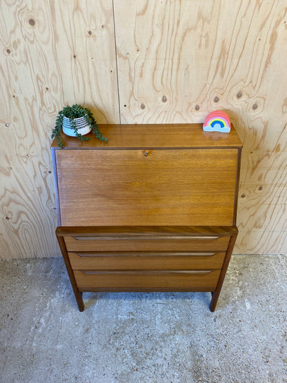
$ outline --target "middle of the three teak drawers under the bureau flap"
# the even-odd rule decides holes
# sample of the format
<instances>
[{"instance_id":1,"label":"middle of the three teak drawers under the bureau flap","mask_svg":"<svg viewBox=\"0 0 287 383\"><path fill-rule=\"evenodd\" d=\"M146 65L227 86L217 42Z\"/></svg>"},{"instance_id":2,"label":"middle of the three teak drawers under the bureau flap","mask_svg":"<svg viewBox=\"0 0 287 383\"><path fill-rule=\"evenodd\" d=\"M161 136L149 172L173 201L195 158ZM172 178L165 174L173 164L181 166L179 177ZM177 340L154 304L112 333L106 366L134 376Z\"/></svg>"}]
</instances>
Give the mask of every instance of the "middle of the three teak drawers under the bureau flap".
<instances>
[{"instance_id":1,"label":"middle of the three teak drawers under the bureau flap","mask_svg":"<svg viewBox=\"0 0 287 383\"><path fill-rule=\"evenodd\" d=\"M75 270L147 270L221 268L224 252L68 253Z\"/></svg>"}]
</instances>

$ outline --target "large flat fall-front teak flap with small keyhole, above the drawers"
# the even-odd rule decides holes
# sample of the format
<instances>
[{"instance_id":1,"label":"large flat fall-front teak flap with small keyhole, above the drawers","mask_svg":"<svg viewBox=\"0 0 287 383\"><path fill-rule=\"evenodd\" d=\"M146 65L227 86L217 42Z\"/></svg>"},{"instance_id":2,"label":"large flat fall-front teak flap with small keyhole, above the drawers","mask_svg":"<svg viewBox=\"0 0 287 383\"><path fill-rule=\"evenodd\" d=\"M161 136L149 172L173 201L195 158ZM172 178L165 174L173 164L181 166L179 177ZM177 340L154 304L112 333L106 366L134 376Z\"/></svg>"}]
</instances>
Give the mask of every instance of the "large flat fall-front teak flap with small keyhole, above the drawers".
<instances>
[{"instance_id":1,"label":"large flat fall-front teak flap with small keyhole, above the drawers","mask_svg":"<svg viewBox=\"0 0 287 383\"><path fill-rule=\"evenodd\" d=\"M232 225L237 149L56 155L63 226Z\"/></svg>"}]
</instances>

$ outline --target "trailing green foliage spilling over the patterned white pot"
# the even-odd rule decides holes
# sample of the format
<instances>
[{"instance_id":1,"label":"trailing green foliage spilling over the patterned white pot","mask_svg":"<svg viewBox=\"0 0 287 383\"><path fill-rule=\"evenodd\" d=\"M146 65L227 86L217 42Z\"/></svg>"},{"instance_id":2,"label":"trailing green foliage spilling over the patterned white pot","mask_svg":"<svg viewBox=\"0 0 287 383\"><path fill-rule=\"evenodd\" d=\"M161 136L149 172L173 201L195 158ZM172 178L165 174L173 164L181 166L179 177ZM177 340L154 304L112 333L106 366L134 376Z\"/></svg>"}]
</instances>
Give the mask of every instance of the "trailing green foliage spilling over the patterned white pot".
<instances>
[{"instance_id":1,"label":"trailing green foliage spilling over the patterned white pot","mask_svg":"<svg viewBox=\"0 0 287 383\"><path fill-rule=\"evenodd\" d=\"M89 137L84 137L81 135L78 130L76 123L74 119L80 118L80 117L86 117L86 121L89 124L89 126L92 128L92 133L99 139L99 141L105 141L108 142L107 137L103 137L101 132L99 131L99 127L97 124L97 121L95 120L94 116L92 115L92 112L89 108L83 108L83 106L74 104L73 106L65 106L62 110L58 112L57 119L56 119L56 126L52 130L52 138L57 139L58 146L60 148L64 147L63 140L61 139L61 130L63 126L63 117L67 117L70 119L70 124L72 128L74 129L75 135L78 139L81 141L88 141Z\"/></svg>"}]
</instances>

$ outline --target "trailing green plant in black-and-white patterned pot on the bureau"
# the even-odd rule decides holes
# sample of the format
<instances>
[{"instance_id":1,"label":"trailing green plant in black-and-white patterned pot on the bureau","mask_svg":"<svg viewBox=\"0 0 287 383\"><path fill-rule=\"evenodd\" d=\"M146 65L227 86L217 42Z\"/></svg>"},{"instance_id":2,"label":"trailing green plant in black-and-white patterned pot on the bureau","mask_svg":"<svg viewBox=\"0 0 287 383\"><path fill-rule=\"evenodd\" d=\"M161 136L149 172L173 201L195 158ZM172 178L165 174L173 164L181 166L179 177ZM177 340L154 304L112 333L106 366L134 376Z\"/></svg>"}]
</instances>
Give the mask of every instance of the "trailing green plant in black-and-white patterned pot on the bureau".
<instances>
[{"instance_id":1,"label":"trailing green plant in black-and-white patterned pot on the bureau","mask_svg":"<svg viewBox=\"0 0 287 383\"><path fill-rule=\"evenodd\" d=\"M99 131L97 121L95 121L90 109L83 108L83 106L78 104L65 106L57 115L56 126L52 130L51 137L56 137L58 146L63 148L61 130L68 136L78 137L81 141L88 141L90 138L83 137L83 135L88 134L92 130L99 141L108 141Z\"/></svg>"}]
</instances>

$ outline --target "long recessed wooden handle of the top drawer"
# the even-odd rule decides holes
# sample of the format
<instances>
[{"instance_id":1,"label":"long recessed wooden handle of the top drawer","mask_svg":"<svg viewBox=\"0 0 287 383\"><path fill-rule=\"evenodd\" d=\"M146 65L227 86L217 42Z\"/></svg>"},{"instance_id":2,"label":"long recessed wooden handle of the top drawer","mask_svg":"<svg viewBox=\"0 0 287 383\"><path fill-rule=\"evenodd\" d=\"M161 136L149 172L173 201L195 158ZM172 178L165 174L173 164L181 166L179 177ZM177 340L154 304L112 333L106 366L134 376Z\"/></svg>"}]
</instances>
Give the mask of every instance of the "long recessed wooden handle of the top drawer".
<instances>
[{"instance_id":1,"label":"long recessed wooden handle of the top drawer","mask_svg":"<svg viewBox=\"0 0 287 383\"><path fill-rule=\"evenodd\" d=\"M146 240L170 240L170 239L176 239L177 241L178 240L184 240L184 239L201 239L201 240L215 240L215 239L219 239L219 236L210 236L210 237L203 237L203 236L197 236L197 237L194 237L192 235L126 235L126 236L123 236L123 235L120 235L120 236L104 236L104 235L97 235L96 237L73 237L75 238L77 241L98 241L98 240L104 240L104 241L122 241L122 240L133 240L133 239L146 239Z\"/></svg>"}]
</instances>

